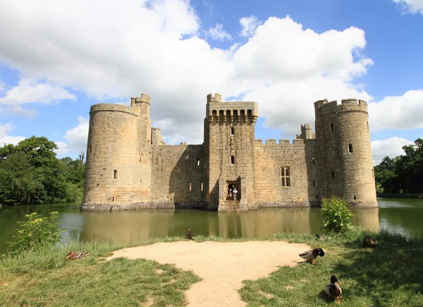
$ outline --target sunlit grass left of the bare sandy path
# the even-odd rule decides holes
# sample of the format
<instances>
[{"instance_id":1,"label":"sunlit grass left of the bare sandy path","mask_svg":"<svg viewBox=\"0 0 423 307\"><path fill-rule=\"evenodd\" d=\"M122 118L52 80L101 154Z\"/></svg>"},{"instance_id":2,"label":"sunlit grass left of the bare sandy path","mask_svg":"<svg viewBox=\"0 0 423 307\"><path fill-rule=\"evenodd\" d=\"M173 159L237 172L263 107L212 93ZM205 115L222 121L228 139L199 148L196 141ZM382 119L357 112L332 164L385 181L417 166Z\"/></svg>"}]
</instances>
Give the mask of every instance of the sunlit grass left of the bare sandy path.
<instances>
[{"instance_id":1,"label":"sunlit grass left of the bare sandy path","mask_svg":"<svg viewBox=\"0 0 423 307\"><path fill-rule=\"evenodd\" d=\"M0 264L0 306L186 305L184 291L199 277L145 259L102 261L107 252L121 247L73 243L6 258ZM92 254L66 260L70 250Z\"/></svg>"}]
</instances>

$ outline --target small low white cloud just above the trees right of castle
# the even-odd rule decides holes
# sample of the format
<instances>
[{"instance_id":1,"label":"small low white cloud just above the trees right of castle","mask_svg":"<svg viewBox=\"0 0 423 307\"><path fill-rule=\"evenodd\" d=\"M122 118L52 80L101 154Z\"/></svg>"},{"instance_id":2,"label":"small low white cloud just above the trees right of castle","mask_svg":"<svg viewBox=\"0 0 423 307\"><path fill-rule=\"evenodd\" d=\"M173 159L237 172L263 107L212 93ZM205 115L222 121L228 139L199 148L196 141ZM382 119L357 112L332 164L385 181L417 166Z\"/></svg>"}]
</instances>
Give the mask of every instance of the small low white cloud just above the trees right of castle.
<instances>
[{"instance_id":1,"label":"small low white cloud just above the trees right of castle","mask_svg":"<svg viewBox=\"0 0 423 307\"><path fill-rule=\"evenodd\" d=\"M385 140L372 141L373 164L380 164L386 156L393 159L399 155L404 155L403 146L411 144L414 144L412 140L398 138L396 136Z\"/></svg>"}]
</instances>

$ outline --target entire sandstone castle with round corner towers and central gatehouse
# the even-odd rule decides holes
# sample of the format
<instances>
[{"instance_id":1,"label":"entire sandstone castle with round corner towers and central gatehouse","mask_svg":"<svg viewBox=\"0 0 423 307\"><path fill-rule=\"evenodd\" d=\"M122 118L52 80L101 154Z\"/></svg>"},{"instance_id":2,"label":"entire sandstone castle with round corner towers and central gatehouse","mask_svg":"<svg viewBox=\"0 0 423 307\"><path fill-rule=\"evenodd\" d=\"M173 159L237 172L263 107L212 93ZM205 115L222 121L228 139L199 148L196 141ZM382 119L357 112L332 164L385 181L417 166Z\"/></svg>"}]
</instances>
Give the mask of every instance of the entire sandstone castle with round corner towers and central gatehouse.
<instances>
[{"instance_id":1,"label":"entire sandstone castle with round corner towers and central gatehouse","mask_svg":"<svg viewBox=\"0 0 423 307\"><path fill-rule=\"evenodd\" d=\"M255 139L257 102L207 95L202 145L166 145L149 118L150 97L94 104L82 210L314 206L338 195L377 207L367 103L314 102L315 128L290 140ZM231 189L236 188L236 199Z\"/></svg>"}]
</instances>

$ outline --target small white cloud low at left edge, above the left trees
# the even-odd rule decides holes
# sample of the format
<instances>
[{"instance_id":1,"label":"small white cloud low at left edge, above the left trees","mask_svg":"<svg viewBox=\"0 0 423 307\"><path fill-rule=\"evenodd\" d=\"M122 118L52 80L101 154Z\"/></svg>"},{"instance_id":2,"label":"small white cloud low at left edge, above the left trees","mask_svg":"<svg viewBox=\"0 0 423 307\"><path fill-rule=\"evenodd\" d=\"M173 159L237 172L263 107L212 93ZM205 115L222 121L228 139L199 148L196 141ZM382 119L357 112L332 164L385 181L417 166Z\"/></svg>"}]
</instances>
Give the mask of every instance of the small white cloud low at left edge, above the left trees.
<instances>
[{"instance_id":1,"label":"small white cloud low at left edge, above the left trees","mask_svg":"<svg viewBox=\"0 0 423 307\"><path fill-rule=\"evenodd\" d=\"M59 85L22 78L16 87L8 90L4 97L0 97L0 104L50 103L65 99L75 100L75 95L63 90Z\"/></svg>"}]
</instances>

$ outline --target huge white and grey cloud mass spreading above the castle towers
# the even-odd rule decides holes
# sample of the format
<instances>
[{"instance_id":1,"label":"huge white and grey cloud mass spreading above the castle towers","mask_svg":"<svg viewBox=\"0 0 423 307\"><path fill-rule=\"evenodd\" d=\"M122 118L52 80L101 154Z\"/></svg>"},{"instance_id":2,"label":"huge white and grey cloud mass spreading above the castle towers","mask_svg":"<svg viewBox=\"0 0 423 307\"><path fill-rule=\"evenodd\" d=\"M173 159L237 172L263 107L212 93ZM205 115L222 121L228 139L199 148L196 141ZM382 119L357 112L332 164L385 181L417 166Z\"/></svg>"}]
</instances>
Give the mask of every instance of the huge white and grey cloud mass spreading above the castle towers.
<instances>
[{"instance_id":1,"label":"huge white and grey cloud mass spreading above the castle towers","mask_svg":"<svg viewBox=\"0 0 423 307\"><path fill-rule=\"evenodd\" d=\"M289 16L250 16L240 21L248 42L219 49L200 37L188 1L46 1L1 1L0 62L99 101L147 93L171 142L202 140L209 92L259 102L265 125L285 136L314 122L316 100L371 99L354 83L373 63L358 28L318 33Z\"/></svg>"}]
</instances>

